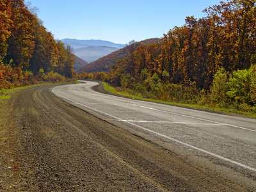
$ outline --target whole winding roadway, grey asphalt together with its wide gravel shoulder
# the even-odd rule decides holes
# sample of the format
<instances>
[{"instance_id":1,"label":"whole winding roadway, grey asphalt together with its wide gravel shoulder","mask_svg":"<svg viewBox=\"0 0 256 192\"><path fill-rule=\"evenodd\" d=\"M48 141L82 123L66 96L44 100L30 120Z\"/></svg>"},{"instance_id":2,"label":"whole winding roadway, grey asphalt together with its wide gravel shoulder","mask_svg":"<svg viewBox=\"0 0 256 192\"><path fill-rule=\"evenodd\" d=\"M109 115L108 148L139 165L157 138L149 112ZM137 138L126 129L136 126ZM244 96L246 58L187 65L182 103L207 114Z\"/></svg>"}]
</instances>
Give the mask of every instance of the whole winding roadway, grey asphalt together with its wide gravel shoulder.
<instances>
[{"instance_id":1,"label":"whole winding roadway, grey asphalt together with its wide gravel shoulder","mask_svg":"<svg viewBox=\"0 0 256 192\"><path fill-rule=\"evenodd\" d=\"M255 120L102 94L95 84L11 97L0 191L255 191Z\"/></svg>"}]
</instances>

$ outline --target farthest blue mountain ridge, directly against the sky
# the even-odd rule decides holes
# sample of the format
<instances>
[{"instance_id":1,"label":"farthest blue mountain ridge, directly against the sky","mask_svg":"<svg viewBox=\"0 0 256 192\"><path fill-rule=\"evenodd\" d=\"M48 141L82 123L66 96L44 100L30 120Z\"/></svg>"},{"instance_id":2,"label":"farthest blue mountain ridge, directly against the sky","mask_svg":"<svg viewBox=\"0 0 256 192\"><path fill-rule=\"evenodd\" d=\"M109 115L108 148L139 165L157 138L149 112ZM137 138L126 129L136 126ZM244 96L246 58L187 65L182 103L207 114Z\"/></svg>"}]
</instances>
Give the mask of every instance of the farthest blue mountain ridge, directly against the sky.
<instances>
[{"instance_id":1,"label":"farthest blue mountain ridge, directly against the sky","mask_svg":"<svg viewBox=\"0 0 256 192\"><path fill-rule=\"evenodd\" d=\"M116 47L118 49L122 49L125 47L125 44L115 44L113 42L108 42L104 40L77 40L77 39L70 39L70 38L65 38L61 40L64 44L70 45L74 49L77 48L83 48L83 47L101 47L101 46L106 46L106 47Z\"/></svg>"}]
</instances>

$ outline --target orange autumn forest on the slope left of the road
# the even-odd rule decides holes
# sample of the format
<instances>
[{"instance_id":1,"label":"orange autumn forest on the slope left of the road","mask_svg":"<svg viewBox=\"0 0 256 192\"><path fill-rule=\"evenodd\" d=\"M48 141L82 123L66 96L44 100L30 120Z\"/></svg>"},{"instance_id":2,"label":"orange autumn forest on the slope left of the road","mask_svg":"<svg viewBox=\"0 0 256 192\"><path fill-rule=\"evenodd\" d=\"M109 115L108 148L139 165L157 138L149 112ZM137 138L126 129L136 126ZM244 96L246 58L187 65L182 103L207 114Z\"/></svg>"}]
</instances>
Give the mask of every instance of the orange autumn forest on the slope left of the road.
<instances>
[{"instance_id":1,"label":"orange autumn forest on the slope left of the road","mask_svg":"<svg viewBox=\"0 0 256 192\"><path fill-rule=\"evenodd\" d=\"M72 47L56 42L24 0L0 0L0 24L0 90L76 79Z\"/></svg>"}]
</instances>

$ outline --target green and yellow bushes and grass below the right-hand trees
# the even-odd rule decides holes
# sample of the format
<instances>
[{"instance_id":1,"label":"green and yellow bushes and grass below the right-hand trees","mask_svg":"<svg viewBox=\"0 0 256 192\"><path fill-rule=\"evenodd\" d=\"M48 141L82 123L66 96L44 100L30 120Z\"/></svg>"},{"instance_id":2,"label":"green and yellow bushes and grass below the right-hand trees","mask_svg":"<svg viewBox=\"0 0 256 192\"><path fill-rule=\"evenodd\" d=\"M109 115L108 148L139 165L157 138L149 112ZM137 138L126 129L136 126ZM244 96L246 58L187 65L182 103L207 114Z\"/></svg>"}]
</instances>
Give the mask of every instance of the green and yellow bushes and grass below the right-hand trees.
<instances>
[{"instance_id":1,"label":"green and yellow bushes and grass below the right-hand trees","mask_svg":"<svg viewBox=\"0 0 256 192\"><path fill-rule=\"evenodd\" d=\"M108 83L104 86L109 92L135 99L256 117L256 65L232 74L220 68L214 75L209 92L199 90L191 82L171 84L156 76L131 84L129 88Z\"/></svg>"}]
</instances>

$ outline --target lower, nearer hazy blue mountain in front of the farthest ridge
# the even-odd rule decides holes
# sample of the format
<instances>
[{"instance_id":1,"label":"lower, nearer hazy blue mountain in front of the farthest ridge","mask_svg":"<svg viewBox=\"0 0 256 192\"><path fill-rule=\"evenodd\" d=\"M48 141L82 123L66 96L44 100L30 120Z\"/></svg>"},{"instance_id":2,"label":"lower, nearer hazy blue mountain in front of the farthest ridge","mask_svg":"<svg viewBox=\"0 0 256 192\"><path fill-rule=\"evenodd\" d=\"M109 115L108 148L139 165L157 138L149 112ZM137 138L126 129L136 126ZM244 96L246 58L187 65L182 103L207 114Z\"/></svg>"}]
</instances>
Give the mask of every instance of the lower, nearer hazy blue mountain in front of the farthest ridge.
<instances>
[{"instance_id":1,"label":"lower, nearer hazy blue mountain in front of the farthest ridge","mask_svg":"<svg viewBox=\"0 0 256 192\"><path fill-rule=\"evenodd\" d=\"M106 46L90 46L90 47L83 47L74 49L74 54L81 58L82 60L90 63L92 61L98 60L103 56L110 54L113 51L117 51L118 48L116 47L106 47Z\"/></svg>"}]
</instances>

